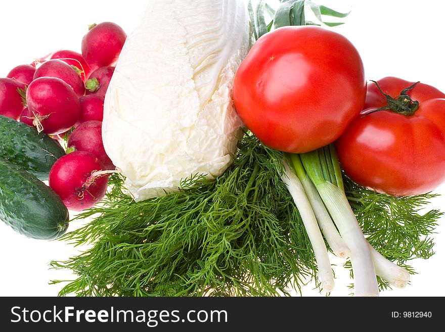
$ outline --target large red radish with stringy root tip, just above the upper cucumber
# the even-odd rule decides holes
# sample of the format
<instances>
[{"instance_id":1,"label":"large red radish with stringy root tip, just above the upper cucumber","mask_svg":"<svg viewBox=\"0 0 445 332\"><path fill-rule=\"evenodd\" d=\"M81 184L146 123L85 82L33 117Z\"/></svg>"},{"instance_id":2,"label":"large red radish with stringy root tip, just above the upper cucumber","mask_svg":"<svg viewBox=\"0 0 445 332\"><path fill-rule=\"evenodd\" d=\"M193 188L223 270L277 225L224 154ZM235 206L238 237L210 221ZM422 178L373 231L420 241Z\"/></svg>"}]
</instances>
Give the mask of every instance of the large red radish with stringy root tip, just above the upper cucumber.
<instances>
[{"instance_id":1,"label":"large red radish with stringy root tip, just above the upper cucumber","mask_svg":"<svg viewBox=\"0 0 445 332\"><path fill-rule=\"evenodd\" d=\"M29 84L26 102L38 131L57 135L71 129L80 115L74 90L56 77L40 77Z\"/></svg>"}]
</instances>

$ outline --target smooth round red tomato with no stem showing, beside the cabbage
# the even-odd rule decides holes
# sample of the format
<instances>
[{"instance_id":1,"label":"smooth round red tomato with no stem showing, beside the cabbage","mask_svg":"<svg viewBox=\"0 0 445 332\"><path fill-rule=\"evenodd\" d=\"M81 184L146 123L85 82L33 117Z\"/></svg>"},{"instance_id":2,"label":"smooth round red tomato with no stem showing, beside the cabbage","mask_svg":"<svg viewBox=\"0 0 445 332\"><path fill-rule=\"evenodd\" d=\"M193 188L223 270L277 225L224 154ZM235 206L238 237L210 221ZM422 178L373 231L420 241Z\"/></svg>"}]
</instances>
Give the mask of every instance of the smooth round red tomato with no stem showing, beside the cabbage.
<instances>
[{"instance_id":1,"label":"smooth round red tomato with no stem showing, beside the cabbage","mask_svg":"<svg viewBox=\"0 0 445 332\"><path fill-rule=\"evenodd\" d=\"M290 153L332 143L365 97L359 53L344 36L318 26L282 27L260 37L233 86L247 128L265 145Z\"/></svg>"}]
</instances>

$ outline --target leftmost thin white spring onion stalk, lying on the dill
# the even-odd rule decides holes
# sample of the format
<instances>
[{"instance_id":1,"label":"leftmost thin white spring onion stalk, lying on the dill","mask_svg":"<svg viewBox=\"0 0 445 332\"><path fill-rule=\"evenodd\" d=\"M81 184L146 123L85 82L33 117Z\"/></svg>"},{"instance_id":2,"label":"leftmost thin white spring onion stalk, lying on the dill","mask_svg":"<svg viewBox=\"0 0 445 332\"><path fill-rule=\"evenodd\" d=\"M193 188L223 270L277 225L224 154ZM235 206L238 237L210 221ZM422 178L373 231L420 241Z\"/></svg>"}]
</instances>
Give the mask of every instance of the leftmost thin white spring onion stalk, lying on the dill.
<instances>
[{"instance_id":1,"label":"leftmost thin white spring onion stalk, lying on the dill","mask_svg":"<svg viewBox=\"0 0 445 332\"><path fill-rule=\"evenodd\" d=\"M334 275L332 273L325 241L300 180L290 168L287 160L283 159L283 165L285 172L281 178L284 183L286 183L289 193L298 208L310 243L314 249L318 265L318 276L322 283L322 288L325 292L329 293L334 289Z\"/></svg>"}]
</instances>

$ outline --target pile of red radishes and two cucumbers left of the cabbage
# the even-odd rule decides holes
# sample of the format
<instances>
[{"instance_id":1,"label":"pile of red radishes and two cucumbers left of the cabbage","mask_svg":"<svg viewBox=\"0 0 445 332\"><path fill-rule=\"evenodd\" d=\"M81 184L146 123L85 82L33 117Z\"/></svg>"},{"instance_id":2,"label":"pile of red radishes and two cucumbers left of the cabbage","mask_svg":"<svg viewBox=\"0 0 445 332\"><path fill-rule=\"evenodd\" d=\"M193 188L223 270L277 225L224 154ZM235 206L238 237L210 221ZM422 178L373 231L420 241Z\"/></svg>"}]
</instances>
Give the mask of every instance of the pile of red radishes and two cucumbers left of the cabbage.
<instances>
[{"instance_id":1,"label":"pile of red radishes and two cucumbers left of the cabbage","mask_svg":"<svg viewBox=\"0 0 445 332\"><path fill-rule=\"evenodd\" d=\"M114 23L94 25L83 55L57 51L0 78L0 215L19 233L58 238L68 209L105 196L115 166L102 143L104 96L125 39Z\"/></svg>"}]
</instances>

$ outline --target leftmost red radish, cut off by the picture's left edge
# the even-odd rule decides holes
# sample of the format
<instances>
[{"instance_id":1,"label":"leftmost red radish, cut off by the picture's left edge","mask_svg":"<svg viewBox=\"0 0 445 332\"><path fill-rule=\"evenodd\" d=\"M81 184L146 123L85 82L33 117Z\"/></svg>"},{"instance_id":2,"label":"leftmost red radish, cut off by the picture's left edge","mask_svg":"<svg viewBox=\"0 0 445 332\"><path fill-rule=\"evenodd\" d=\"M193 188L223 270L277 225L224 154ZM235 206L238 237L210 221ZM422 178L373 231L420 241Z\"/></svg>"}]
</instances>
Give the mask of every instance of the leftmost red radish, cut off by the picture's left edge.
<instances>
[{"instance_id":1,"label":"leftmost red radish, cut off by the picture's left edge","mask_svg":"<svg viewBox=\"0 0 445 332\"><path fill-rule=\"evenodd\" d=\"M17 89L23 84L11 78L0 78L0 115L18 120L25 105Z\"/></svg>"}]
</instances>

